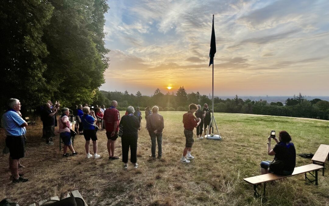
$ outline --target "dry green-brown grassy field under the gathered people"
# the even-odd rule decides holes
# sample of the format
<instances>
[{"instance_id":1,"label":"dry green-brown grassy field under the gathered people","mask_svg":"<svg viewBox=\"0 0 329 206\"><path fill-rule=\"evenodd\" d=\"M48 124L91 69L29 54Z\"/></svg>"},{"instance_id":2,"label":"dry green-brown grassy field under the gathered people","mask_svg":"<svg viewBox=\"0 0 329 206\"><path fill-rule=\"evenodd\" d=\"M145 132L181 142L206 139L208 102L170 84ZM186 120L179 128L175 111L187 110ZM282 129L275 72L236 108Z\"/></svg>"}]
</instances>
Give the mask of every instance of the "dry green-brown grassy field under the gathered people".
<instances>
[{"instance_id":1,"label":"dry green-brown grassy field under the gathered people","mask_svg":"<svg viewBox=\"0 0 329 206\"><path fill-rule=\"evenodd\" d=\"M120 112L123 115L124 112ZM318 186L297 175L268 184L266 198L254 198L252 186L242 179L260 174L260 162L272 160L266 152L271 130L291 134L296 153L315 153L320 144L329 144L329 122L313 119L215 113L223 141L196 140L195 157L190 164L179 159L185 147L182 115L184 112L160 112L164 116L163 158L151 160L151 142L145 130L139 132L139 168L120 160L109 161L104 131L98 132L100 159L86 159L85 139L77 135L76 157L63 158L59 135L55 144L41 139L41 122L27 128L26 157L21 163L27 183L12 184L8 155L0 156L0 199L11 198L28 205L62 191L79 190L89 205L328 205L329 171L319 172ZM58 131L58 128L56 128ZM195 130L194 130L195 133ZM196 137L196 135L194 134ZM0 144L4 145L1 130ZM272 148L274 141L272 142ZM92 148L92 146L91 146ZM2 147L1 147L2 149ZM92 152L91 152L92 153ZM121 139L116 141L116 156L121 156ZM296 157L296 166L311 163Z\"/></svg>"}]
</instances>

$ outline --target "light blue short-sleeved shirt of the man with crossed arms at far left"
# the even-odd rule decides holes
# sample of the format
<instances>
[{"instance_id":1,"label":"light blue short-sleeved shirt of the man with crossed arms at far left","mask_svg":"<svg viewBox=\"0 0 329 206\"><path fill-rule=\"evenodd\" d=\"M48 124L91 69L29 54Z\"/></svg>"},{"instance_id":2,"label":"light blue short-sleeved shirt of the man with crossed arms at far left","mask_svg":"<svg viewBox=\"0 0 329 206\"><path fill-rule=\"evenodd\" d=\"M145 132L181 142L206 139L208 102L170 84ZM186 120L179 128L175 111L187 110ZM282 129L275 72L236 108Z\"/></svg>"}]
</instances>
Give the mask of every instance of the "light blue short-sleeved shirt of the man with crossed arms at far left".
<instances>
[{"instance_id":1,"label":"light blue short-sleeved shirt of the man with crossed arms at far left","mask_svg":"<svg viewBox=\"0 0 329 206\"><path fill-rule=\"evenodd\" d=\"M26 134L25 127L21 127L25 121L14 110L9 110L2 115L2 127L7 136L22 136Z\"/></svg>"}]
</instances>

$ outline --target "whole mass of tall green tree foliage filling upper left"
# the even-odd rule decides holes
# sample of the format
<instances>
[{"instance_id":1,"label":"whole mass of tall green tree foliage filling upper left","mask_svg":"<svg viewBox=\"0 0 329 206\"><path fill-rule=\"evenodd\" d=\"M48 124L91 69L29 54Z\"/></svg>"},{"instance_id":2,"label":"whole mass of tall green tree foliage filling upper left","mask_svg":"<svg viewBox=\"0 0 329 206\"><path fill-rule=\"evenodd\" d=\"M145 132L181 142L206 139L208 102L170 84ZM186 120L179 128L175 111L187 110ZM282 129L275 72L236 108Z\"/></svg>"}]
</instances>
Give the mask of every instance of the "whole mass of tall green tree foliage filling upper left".
<instances>
[{"instance_id":1,"label":"whole mass of tall green tree foliage filling upper left","mask_svg":"<svg viewBox=\"0 0 329 206\"><path fill-rule=\"evenodd\" d=\"M108 68L108 9L106 0L1 2L1 108L9 98L25 111L47 100L94 101Z\"/></svg>"}]
</instances>

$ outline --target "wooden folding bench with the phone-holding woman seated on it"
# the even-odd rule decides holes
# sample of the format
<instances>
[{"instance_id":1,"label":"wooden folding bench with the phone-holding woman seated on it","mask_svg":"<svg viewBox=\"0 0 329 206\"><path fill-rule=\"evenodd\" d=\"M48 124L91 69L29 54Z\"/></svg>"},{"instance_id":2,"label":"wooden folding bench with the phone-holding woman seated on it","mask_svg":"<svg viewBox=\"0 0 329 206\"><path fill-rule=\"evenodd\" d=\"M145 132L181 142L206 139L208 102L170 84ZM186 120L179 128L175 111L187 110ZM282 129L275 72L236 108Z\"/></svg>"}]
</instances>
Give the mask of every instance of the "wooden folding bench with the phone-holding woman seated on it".
<instances>
[{"instance_id":1,"label":"wooden folding bench with the phone-holding woman seated on it","mask_svg":"<svg viewBox=\"0 0 329 206\"><path fill-rule=\"evenodd\" d=\"M293 173L291 175L287 175L287 176L281 176L281 175L276 175L274 173L269 173L269 174L244 178L243 180L254 186L254 196L259 197L260 195L257 192L257 185L261 185L262 183L264 183L263 196L265 196L267 182L272 182L274 180L279 180L279 179L283 179L286 177L291 177L291 176L295 176L295 175L299 175L299 174L305 174L305 180L309 180L311 183L315 182L315 185L317 185L317 171L322 168L323 168L323 166L320 166L317 164L308 164L308 165L304 165L304 166L300 166L300 167L295 167L295 169L293 170ZM315 171L315 174L312 174L311 173L312 171ZM309 173L310 175L307 175L307 173ZM308 176L314 177L315 180L310 180L308 178Z\"/></svg>"}]
</instances>

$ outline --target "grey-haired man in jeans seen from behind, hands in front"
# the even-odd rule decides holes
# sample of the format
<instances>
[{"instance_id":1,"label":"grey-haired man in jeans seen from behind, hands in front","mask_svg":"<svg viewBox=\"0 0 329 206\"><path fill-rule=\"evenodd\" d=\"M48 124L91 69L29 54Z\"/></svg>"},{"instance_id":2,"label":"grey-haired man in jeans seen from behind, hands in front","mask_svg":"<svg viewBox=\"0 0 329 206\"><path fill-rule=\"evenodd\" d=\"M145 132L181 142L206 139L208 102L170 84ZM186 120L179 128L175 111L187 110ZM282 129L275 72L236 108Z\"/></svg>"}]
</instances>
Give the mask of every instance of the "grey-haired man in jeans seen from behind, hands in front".
<instances>
[{"instance_id":1,"label":"grey-haired man in jeans seen from behind, hands in front","mask_svg":"<svg viewBox=\"0 0 329 206\"><path fill-rule=\"evenodd\" d=\"M150 134L151 142L152 142L152 148L151 148L152 155L150 155L150 157L152 157L153 159L156 158L155 156L156 140L158 142L158 159L161 159L162 157L162 130L164 129L164 118L161 114L158 113L158 111L159 111L159 107L157 106L152 107L153 113L148 115L146 121L148 133Z\"/></svg>"}]
</instances>

